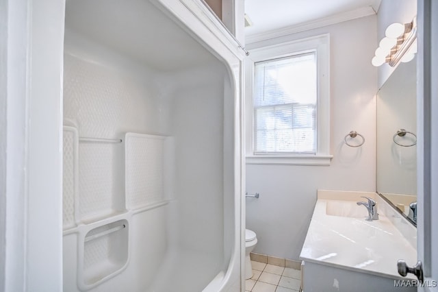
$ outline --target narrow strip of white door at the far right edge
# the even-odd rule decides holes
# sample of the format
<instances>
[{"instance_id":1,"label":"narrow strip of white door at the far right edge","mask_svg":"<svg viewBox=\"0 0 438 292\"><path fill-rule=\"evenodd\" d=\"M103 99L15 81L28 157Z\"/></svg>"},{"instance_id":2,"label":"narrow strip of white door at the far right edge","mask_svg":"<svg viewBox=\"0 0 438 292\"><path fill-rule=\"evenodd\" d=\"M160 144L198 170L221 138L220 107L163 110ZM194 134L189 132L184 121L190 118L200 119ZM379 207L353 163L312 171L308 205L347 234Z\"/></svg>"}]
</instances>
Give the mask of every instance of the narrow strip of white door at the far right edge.
<instances>
[{"instance_id":1,"label":"narrow strip of white door at the far right edge","mask_svg":"<svg viewBox=\"0 0 438 292\"><path fill-rule=\"evenodd\" d=\"M438 3L417 1L417 257L424 283L418 291L438 291ZM435 212L434 212L435 211ZM435 287L434 287L435 286Z\"/></svg>"}]
</instances>

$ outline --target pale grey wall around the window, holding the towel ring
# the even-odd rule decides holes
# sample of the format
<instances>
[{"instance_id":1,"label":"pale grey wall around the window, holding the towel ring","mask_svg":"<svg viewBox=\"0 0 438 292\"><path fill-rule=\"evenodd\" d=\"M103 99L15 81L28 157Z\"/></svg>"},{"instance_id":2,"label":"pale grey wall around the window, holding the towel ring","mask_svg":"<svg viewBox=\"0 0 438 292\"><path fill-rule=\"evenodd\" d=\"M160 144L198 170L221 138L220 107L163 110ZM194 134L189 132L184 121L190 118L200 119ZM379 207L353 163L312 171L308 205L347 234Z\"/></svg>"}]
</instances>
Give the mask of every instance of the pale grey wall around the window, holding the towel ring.
<instances>
[{"instance_id":1,"label":"pale grey wall around the window, holding the towel ring","mask_svg":"<svg viewBox=\"0 0 438 292\"><path fill-rule=\"evenodd\" d=\"M246 227L257 233L254 252L298 259L318 188L374 191L376 186L376 16L248 44L248 49L329 33L331 36L331 154L329 167L246 165ZM246 97L248 98L248 97ZM250 98L250 97L249 97ZM359 148L344 136L365 136Z\"/></svg>"}]
</instances>

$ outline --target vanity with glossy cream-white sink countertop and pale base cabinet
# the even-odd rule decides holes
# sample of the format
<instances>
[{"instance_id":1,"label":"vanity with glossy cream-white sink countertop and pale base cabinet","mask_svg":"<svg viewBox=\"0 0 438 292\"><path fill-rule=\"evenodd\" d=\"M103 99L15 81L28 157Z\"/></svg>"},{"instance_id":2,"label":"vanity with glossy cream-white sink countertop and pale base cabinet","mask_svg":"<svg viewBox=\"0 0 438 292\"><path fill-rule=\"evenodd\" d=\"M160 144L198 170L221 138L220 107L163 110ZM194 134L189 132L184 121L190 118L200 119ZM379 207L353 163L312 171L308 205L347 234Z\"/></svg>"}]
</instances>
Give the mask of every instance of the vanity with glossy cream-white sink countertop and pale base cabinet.
<instances>
[{"instance_id":1,"label":"vanity with glossy cream-white sink countertop and pale base cabinet","mask_svg":"<svg viewBox=\"0 0 438 292\"><path fill-rule=\"evenodd\" d=\"M370 197L378 219L357 202ZM302 288L305 292L416 291L394 287L394 281L415 280L398 274L397 261L417 262L416 229L376 193L322 191L302 246ZM315 281L318 279L318 281Z\"/></svg>"}]
</instances>

